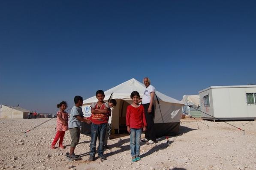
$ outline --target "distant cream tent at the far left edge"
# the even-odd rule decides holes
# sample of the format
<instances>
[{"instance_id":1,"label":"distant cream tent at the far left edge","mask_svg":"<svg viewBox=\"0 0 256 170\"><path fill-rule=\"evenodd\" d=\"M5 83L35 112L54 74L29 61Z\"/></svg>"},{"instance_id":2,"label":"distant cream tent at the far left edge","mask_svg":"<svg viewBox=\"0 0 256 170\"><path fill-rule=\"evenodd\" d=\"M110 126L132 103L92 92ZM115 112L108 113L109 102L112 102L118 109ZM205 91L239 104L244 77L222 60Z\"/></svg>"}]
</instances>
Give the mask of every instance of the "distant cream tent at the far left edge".
<instances>
[{"instance_id":1,"label":"distant cream tent at the far left edge","mask_svg":"<svg viewBox=\"0 0 256 170\"><path fill-rule=\"evenodd\" d=\"M21 107L0 105L0 118L23 119L28 117L30 111Z\"/></svg>"}]
</instances>

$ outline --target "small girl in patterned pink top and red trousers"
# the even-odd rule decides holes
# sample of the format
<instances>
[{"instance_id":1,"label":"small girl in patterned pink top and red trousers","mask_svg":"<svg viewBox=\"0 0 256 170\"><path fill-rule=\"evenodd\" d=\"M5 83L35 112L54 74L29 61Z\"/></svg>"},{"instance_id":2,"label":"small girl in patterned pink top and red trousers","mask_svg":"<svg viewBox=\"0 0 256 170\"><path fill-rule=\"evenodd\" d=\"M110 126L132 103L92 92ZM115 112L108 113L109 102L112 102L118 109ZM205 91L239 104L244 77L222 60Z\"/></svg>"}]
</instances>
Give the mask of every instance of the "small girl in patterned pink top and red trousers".
<instances>
[{"instance_id":1,"label":"small girl in patterned pink top and red trousers","mask_svg":"<svg viewBox=\"0 0 256 170\"><path fill-rule=\"evenodd\" d=\"M55 135L54 140L52 141L51 144L51 149L55 149L55 144L60 138L59 141L59 148L64 149L65 147L63 146L63 138L65 136L66 130L68 130L68 114L66 113L66 108L67 104L65 101L60 102L57 104L57 108L60 108L59 111L57 111L57 133Z\"/></svg>"}]
</instances>

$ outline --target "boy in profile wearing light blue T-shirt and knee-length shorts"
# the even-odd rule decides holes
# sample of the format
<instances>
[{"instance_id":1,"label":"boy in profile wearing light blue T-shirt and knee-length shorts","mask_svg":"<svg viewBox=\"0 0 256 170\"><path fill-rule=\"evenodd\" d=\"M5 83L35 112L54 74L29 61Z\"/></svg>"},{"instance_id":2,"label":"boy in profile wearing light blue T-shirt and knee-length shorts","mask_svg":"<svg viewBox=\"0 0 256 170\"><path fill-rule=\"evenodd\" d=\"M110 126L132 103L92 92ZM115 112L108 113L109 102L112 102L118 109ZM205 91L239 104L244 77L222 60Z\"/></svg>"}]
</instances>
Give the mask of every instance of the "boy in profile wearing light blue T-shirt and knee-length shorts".
<instances>
[{"instance_id":1,"label":"boy in profile wearing light blue T-shirt and knee-length shorts","mask_svg":"<svg viewBox=\"0 0 256 170\"><path fill-rule=\"evenodd\" d=\"M70 119L68 122L69 125L69 133L71 137L71 144L70 144L70 152L68 157L72 159L76 159L79 156L75 155L75 147L79 142L80 138L80 127L81 127L81 122L86 122L90 123L90 120L87 120L83 116L82 108L81 106L83 105L83 98L81 96L75 96L74 98L75 106L72 107L70 111Z\"/></svg>"}]
</instances>

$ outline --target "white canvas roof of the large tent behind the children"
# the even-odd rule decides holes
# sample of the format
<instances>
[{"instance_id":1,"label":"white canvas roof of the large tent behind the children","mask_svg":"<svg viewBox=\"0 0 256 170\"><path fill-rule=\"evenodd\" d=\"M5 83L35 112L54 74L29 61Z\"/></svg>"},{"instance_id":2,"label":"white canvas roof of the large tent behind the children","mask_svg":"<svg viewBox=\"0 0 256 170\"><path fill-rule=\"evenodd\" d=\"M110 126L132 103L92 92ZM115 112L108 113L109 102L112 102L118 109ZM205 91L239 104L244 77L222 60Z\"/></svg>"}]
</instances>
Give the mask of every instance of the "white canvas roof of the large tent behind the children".
<instances>
[{"instance_id":1,"label":"white canvas roof of the large tent behind the children","mask_svg":"<svg viewBox=\"0 0 256 170\"><path fill-rule=\"evenodd\" d=\"M132 78L126 82L121 83L120 85L115 86L114 88L111 88L107 91L104 91L105 93L105 100L108 100L110 97L111 93L112 99L123 99L123 100L131 100L130 99L130 94L132 91L138 91L140 96L143 97L143 93L145 90L145 85L139 82L138 80ZM166 96L165 94L160 93L159 91L156 91L157 97L159 101L163 102L168 102L168 103L176 103L176 104L182 104L184 105L183 102L176 100L172 97ZM88 98L87 100L84 100L85 103L93 103L97 102L98 100L96 99L95 96Z\"/></svg>"}]
</instances>

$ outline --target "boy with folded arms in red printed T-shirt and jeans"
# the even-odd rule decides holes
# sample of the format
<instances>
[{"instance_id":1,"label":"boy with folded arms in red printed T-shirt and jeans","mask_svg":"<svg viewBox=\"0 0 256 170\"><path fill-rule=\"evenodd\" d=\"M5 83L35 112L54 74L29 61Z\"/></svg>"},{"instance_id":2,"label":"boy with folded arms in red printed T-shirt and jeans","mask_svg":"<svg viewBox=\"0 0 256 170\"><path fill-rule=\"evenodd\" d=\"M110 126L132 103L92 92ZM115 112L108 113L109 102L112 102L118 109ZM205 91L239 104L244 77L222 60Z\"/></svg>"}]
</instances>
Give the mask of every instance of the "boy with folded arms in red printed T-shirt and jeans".
<instances>
[{"instance_id":1,"label":"boy with folded arms in red printed T-shirt and jeans","mask_svg":"<svg viewBox=\"0 0 256 170\"><path fill-rule=\"evenodd\" d=\"M108 124L108 114L102 113L108 108L108 103L104 102L105 94L102 90L96 91L96 98L98 102L94 102L91 107L91 142L90 142L90 157L88 161L94 161L96 153L96 142L99 136L98 155L101 161L106 160L103 155L104 152L104 139Z\"/></svg>"}]
</instances>

